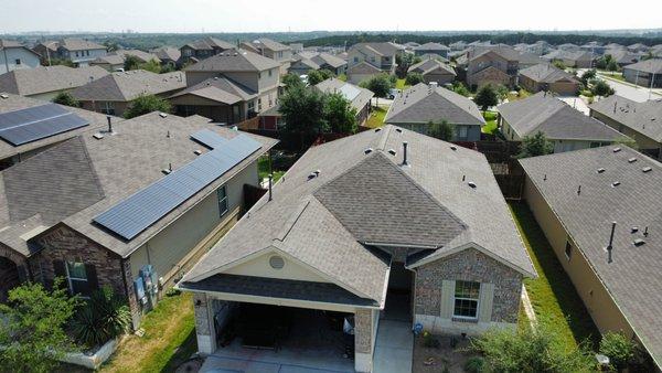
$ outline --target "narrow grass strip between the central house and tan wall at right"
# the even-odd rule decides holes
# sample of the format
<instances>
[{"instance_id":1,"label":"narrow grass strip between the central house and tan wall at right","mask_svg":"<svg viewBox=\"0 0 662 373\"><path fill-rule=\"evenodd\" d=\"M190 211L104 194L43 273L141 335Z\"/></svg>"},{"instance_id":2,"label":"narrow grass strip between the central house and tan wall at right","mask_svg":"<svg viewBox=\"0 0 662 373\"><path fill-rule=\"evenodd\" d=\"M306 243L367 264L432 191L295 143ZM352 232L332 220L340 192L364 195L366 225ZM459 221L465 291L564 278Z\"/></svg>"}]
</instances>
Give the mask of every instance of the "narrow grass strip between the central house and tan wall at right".
<instances>
[{"instance_id":1,"label":"narrow grass strip between the central house and tan wall at right","mask_svg":"<svg viewBox=\"0 0 662 373\"><path fill-rule=\"evenodd\" d=\"M538 322L551 326L568 347L585 340L596 347L600 333L528 206L511 203L510 207L538 274L524 280Z\"/></svg>"}]
</instances>

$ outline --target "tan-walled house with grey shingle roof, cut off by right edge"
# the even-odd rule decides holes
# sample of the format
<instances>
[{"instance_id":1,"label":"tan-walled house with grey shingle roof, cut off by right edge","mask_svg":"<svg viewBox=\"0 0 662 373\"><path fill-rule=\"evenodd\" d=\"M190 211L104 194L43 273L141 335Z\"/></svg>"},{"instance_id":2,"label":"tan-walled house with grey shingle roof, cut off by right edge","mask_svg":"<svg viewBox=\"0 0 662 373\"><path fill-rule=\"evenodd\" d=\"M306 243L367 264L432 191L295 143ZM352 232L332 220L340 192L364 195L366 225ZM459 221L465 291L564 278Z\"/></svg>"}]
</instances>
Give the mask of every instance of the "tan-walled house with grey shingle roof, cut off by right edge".
<instances>
[{"instance_id":1,"label":"tan-walled house with grey shingle roof, cut off by right edge","mask_svg":"<svg viewBox=\"0 0 662 373\"><path fill-rule=\"evenodd\" d=\"M522 159L524 198L594 322L662 369L662 166L627 146Z\"/></svg>"}]
</instances>

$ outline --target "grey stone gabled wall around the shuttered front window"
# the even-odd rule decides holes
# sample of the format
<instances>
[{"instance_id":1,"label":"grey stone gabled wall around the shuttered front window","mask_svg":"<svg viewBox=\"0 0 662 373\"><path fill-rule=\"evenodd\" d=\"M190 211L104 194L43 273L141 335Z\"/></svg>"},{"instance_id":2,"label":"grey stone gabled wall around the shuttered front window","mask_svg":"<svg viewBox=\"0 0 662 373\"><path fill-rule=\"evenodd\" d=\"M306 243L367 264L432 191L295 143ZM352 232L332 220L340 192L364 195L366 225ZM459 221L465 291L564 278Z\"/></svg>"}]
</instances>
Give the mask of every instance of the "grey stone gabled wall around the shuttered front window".
<instances>
[{"instance_id":1,"label":"grey stone gabled wall around the shuttered front window","mask_svg":"<svg viewBox=\"0 0 662 373\"><path fill-rule=\"evenodd\" d=\"M522 294L522 275L470 248L416 269L414 313L439 317L441 283L468 280L494 284L492 322L516 323Z\"/></svg>"}]
</instances>

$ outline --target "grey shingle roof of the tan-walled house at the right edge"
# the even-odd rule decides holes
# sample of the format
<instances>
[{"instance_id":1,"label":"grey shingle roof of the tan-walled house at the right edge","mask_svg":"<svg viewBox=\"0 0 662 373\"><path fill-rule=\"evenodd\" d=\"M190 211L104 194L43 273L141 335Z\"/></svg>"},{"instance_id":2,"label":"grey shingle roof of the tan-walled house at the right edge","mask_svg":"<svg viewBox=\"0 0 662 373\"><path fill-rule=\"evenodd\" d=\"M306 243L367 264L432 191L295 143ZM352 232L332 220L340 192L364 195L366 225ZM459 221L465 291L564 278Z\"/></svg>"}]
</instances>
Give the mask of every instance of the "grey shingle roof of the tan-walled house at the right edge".
<instances>
[{"instance_id":1,"label":"grey shingle roof of the tan-walled house at the right edge","mask_svg":"<svg viewBox=\"0 0 662 373\"><path fill-rule=\"evenodd\" d=\"M521 160L643 345L662 366L662 164L626 146ZM631 159L636 161L631 162ZM604 172L597 172L604 168ZM644 168L651 171L643 172ZM618 186L612 186L620 181ZM581 185L581 193L577 193ZM616 222L612 263L607 262ZM639 227L633 232L633 227ZM648 236L643 234L648 227ZM633 244L641 238L641 246Z\"/></svg>"}]
</instances>

